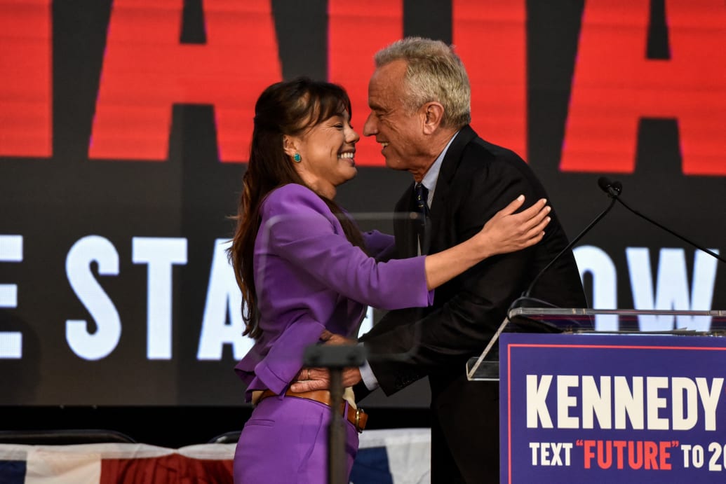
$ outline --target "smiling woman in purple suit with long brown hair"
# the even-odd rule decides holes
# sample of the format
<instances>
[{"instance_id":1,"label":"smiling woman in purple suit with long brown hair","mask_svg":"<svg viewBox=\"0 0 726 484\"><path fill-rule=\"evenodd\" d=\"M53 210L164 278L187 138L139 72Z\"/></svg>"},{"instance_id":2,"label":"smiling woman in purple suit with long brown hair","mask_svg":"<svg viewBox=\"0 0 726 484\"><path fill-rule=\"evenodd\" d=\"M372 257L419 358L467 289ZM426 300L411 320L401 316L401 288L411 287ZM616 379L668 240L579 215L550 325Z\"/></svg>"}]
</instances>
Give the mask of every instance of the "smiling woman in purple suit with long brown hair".
<instances>
[{"instance_id":1,"label":"smiling woman in purple suit with long brown hair","mask_svg":"<svg viewBox=\"0 0 726 484\"><path fill-rule=\"evenodd\" d=\"M229 249L245 304L245 334L256 340L235 367L247 384L246 400L255 404L234 455L237 484L327 482L327 404L349 416L349 473L361 414L352 392L343 402L326 402L326 392L291 394L306 346L324 334L351 335L367 305L431 304L433 288L487 256L537 243L549 222L544 200L513 214L520 197L459 246L378 262L393 238L362 234L333 201L337 186L356 175L359 135L350 116L343 88L306 78L275 83L256 103Z\"/></svg>"}]
</instances>

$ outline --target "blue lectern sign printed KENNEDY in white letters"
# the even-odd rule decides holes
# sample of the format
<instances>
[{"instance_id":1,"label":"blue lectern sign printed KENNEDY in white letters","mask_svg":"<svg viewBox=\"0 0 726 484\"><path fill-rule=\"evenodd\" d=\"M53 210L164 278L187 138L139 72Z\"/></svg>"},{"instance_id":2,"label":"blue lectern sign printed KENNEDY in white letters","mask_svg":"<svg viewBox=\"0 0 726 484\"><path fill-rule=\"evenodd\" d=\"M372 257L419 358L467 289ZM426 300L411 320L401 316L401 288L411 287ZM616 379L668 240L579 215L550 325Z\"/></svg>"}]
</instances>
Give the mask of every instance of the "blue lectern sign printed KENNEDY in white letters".
<instances>
[{"instance_id":1,"label":"blue lectern sign printed KENNEDY in white letters","mask_svg":"<svg viewBox=\"0 0 726 484\"><path fill-rule=\"evenodd\" d=\"M726 338L502 333L501 482L726 483Z\"/></svg>"}]
</instances>

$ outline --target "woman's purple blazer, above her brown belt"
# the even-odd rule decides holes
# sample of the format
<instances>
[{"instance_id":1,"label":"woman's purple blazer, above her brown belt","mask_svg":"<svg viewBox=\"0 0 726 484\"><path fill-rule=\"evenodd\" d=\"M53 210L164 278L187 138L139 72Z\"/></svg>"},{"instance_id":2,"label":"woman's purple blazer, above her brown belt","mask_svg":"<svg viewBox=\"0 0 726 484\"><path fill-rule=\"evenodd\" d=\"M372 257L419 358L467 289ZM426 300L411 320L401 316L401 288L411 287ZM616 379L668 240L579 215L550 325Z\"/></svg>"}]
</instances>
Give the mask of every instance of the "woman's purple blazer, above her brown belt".
<instances>
[{"instance_id":1,"label":"woman's purple blazer, above her brown belt","mask_svg":"<svg viewBox=\"0 0 726 484\"><path fill-rule=\"evenodd\" d=\"M275 189L261 206L254 271L263 335L234 367L253 390L285 391L303 363L303 351L324 329L351 335L366 306L428 306L425 256L377 262L393 237L364 234L370 256L343 234L338 217L309 188Z\"/></svg>"}]
</instances>

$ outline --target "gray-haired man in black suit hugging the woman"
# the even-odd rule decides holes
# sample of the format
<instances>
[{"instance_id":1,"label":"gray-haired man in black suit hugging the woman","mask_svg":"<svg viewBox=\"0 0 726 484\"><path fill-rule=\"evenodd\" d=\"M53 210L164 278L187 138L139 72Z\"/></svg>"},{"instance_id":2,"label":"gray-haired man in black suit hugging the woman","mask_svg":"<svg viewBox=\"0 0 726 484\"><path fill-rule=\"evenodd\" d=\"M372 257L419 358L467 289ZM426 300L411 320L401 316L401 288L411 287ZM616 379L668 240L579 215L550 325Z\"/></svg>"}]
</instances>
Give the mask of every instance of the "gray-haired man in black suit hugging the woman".
<instances>
[{"instance_id":1,"label":"gray-haired man in black suit hugging the woman","mask_svg":"<svg viewBox=\"0 0 726 484\"><path fill-rule=\"evenodd\" d=\"M548 198L517 154L470 128L468 75L449 46L404 38L378 51L375 65L363 134L383 147L386 166L411 172L415 181L396 212L416 211L416 183L428 189L423 238L416 220L394 221L397 256L434 254L469 238L520 193L529 204ZM357 399L379 386L390 395L428 376L432 483L499 482L498 383L468 381L465 362L481 354L510 304L567 245L555 210L550 216L542 242L486 259L441 285L429 308L388 312L361 338L368 364L346 370L345 384L362 373L367 390L357 385ZM533 293L555 306L587 306L571 251L542 275ZM293 388L322 388L320 382Z\"/></svg>"}]
</instances>

